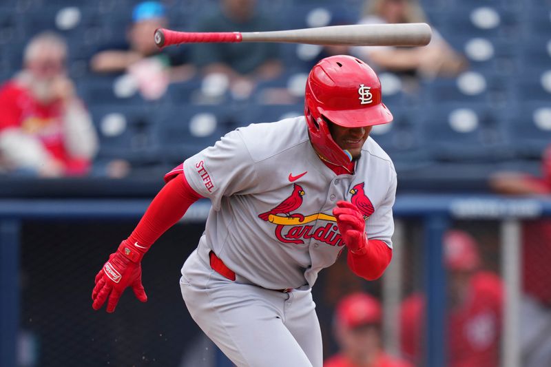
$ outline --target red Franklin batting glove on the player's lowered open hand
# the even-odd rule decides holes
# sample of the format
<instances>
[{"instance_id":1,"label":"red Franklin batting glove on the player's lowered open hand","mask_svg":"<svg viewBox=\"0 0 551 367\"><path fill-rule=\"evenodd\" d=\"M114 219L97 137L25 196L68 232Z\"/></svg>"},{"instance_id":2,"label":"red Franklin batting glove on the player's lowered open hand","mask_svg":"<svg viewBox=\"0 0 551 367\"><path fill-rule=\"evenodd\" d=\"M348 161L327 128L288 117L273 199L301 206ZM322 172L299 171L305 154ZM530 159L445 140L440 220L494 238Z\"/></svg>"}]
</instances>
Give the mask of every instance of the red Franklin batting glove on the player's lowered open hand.
<instances>
[{"instance_id":1,"label":"red Franklin batting glove on the player's lowered open hand","mask_svg":"<svg viewBox=\"0 0 551 367\"><path fill-rule=\"evenodd\" d=\"M136 242L137 244L137 242ZM115 311L118 299L121 298L127 286L141 302L147 301L145 289L142 285L141 260L147 249L140 249L136 245L124 240L115 253L112 253L109 260L103 265L96 275L96 286L92 291L92 308L99 310L107 301L107 312Z\"/></svg>"}]
</instances>

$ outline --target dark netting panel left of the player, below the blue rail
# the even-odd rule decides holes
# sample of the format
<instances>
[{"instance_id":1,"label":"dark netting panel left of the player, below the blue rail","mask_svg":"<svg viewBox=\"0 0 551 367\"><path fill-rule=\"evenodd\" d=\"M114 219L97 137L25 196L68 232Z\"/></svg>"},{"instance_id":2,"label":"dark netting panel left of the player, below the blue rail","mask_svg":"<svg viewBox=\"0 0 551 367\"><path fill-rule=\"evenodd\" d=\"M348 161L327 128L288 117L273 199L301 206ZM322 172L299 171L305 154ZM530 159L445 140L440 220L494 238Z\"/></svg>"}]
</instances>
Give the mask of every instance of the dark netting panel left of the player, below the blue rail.
<instances>
[{"instance_id":1,"label":"dark netting panel left of the player, below the blue rail","mask_svg":"<svg viewBox=\"0 0 551 367\"><path fill-rule=\"evenodd\" d=\"M21 241L23 366L178 366L198 335L178 284L202 225L177 225L143 260L149 297L127 290L114 314L92 309L94 277L134 222L25 222Z\"/></svg>"}]
</instances>

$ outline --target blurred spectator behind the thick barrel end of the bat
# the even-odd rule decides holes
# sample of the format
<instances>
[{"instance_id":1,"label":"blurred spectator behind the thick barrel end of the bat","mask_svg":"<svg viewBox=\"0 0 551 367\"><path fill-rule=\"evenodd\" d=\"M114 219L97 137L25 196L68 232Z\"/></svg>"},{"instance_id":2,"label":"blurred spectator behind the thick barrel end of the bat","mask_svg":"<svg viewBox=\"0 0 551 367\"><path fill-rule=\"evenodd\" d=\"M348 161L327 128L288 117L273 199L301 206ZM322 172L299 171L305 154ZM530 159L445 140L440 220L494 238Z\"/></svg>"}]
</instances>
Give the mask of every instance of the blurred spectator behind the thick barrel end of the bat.
<instances>
[{"instance_id":1,"label":"blurred spectator behind the thick barrel end of the bat","mask_svg":"<svg viewBox=\"0 0 551 367\"><path fill-rule=\"evenodd\" d=\"M366 2L364 17L360 23L426 23L426 21L426 16L417 0L372 0ZM355 51L375 69L424 78L455 76L467 66L466 59L457 54L434 29L433 38L425 47L370 46L355 48Z\"/></svg>"}]
</instances>

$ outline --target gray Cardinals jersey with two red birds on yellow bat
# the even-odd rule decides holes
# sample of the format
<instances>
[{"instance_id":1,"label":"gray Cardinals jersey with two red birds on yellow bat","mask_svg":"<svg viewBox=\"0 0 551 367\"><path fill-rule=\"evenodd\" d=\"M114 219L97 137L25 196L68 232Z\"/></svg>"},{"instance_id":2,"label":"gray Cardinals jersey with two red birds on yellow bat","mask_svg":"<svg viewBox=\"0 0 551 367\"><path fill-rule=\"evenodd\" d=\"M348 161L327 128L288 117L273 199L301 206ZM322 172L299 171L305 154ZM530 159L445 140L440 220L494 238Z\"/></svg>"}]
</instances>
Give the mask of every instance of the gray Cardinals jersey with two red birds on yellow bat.
<instances>
[{"instance_id":1,"label":"gray Cardinals jersey with two red birds on yellow bat","mask_svg":"<svg viewBox=\"0 0 551 367\"><path fill-rule=\"evenodd\" d=\"M212 209L198 251L266 289L313 286L342 250L332 210L360 200L368 238L392 247L396 172L372 138L353 175L337 176L314 151L304 117L252 124L185 160L189 185Z\"/></svg>"}]
</instances>

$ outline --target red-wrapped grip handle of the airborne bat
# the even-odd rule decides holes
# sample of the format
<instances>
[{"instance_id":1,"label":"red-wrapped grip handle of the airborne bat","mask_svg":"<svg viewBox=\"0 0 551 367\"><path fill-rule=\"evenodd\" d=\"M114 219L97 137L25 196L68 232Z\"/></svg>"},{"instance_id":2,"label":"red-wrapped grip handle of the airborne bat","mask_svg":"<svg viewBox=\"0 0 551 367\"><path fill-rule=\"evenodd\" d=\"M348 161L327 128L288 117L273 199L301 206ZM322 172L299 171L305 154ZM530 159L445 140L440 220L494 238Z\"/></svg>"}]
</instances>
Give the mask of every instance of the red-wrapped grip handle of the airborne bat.
<instances>
[{"instance_id":1,"label":"red-wrapped grip handle of the airborne bat","mask_svg":"<svg viewBox=\"0 0 551 367\"><path fill-rule=\"evenodd\" d=\"M203 42L241 42L240 32L178 32L158 28L154 34L155 44L159 48L180 43L203 43Z\"/></svg>"}]
</instances>

